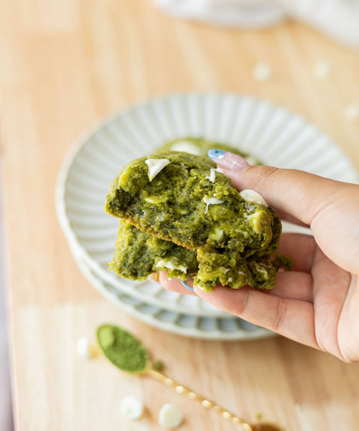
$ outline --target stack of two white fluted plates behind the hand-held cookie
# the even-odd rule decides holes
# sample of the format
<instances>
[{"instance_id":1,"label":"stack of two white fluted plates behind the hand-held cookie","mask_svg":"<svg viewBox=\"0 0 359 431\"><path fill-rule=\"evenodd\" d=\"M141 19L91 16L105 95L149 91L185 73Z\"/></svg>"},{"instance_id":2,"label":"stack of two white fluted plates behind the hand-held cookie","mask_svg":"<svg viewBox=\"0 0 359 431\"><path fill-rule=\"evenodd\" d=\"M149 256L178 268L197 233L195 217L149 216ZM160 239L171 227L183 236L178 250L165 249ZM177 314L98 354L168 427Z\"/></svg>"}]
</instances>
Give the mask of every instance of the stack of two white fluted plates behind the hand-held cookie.
<instances>
[{"instance_id":1,"label":"stack of two white fluted plates behind the hand-held cookie","mask_svg":"<svg viewBox=\"0 0 359 431\"><path fill-rule=\"evenodd\" d=\"M118 220L104 211L113 178L132 159L188 136L222 141L268 165L358 181L340 148L286 109L234 94L191 93L152 100L101 121L66 156L56 186L56 209L72 256L97 290L150 325L200 338L271 336L200 298L169 292L150 281L129 281L108 270L118 229ZM303 230L290 224L283 228Z\"/></svg>"}]
</instances>

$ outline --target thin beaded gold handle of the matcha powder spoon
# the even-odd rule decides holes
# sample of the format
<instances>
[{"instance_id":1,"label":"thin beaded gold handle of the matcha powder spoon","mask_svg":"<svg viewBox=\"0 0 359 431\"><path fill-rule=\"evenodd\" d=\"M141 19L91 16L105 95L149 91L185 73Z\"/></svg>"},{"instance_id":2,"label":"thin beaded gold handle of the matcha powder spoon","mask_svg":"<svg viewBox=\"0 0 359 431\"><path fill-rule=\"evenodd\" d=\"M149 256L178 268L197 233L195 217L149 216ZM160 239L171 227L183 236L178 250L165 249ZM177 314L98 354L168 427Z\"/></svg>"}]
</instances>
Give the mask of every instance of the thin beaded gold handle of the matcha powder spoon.
<instances>
[{"instance_id":1,"label":"thin beaded gold handle of the matcha powder spoon","mask_svg":"<svg viewBox=\"0 0 359 431\"><path fill-rule=\"evenodd\" d=\"M159 380L163 384L169 387L173 387L173 389L177 392L177 394L184 394L186 395L190 400L198 401L201 403L203 407L206 409L213 409L216 412L218 412L222 418L227 419L228 421L231 421L234 424L238 424L242 426L242 429L244 431L253 431L253 428L250 426L248 422L246 422L244 419L239 418L238 416L234 415L231 412L228 412L228 410L224 409L223 407L218 406L213 401L208 400L207 398L202 397L202 395L198 395L195 392L191 391L187 387L182 386L181 384L177 383L176 381L172 380L171 378L165 376L164 374L150 369L147 372L147 375L150 377Z\"/></svg>"}]
</instances>

